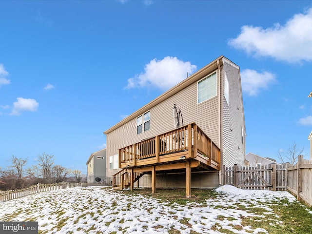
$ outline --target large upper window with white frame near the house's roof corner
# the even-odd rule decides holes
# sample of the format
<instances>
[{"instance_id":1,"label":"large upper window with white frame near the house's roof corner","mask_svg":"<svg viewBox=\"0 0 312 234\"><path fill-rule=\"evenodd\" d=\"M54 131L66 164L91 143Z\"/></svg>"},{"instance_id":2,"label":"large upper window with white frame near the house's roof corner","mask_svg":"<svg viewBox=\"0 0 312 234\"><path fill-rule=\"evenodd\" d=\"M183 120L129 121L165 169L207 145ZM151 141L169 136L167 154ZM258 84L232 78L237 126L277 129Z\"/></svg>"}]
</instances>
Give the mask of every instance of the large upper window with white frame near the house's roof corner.
<instances>
[{"instance_id":1,"label":"large upper window with white frame near the house's roof corner","mask_svg":"<svg viewBox=\"0 0 312 234\"><path fill-rule=\"evenodd\" d=\"M197 82L197 103L216 96L216 72Z\"/></svg>"}]
</instances>

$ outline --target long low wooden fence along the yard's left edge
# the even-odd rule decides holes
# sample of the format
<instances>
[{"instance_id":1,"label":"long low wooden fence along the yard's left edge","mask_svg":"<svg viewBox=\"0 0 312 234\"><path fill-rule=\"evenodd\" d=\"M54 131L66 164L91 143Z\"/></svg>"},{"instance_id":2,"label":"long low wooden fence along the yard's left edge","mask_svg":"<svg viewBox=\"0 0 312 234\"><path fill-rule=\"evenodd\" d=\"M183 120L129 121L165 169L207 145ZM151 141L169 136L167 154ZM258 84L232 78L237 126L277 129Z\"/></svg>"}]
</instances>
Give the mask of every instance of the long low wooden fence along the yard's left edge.
<instances>
[{"instance_id":1,"label":"long low wooden fence along the yard's left edge","mask_svg":"<svg viewBox=\"0 0 312 234\"><path fill-rule=\"evenodd\" d=\"M0 194L0 202L1 201L8 201L15 198L20 198L23 196L37 194L40 192L52 191L52 190L59 190L59 189L68 189L77 187L78 183L55 183L55 184L36 184L34 186L24 188L24 189L15 189L15 190L8 190L2 194Z\"/></svg>"}]
</instances>

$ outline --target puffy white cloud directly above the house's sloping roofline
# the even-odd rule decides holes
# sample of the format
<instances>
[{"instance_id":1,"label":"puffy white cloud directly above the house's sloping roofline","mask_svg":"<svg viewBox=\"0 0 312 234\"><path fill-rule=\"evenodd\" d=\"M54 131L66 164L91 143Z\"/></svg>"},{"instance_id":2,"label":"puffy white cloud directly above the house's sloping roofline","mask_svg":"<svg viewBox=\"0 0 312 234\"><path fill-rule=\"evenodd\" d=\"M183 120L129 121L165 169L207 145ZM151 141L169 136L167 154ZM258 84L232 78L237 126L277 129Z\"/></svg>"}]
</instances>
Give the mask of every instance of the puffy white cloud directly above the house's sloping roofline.
<instances>
[{"instance_id":1,"label":"puffy white cloud directly above the house's sloping roofline","mask_svg":"<svg viewBox=\"0 0 312 234\"><path fill-rule=\"evenodd\" d=\"M169 89L187 78L187 73L195 72L196 66L176 57L165 57L162 60L153 59L145 65L144 73L128 79L126 88L156 87Z\"/></svg>"}]
</instances>

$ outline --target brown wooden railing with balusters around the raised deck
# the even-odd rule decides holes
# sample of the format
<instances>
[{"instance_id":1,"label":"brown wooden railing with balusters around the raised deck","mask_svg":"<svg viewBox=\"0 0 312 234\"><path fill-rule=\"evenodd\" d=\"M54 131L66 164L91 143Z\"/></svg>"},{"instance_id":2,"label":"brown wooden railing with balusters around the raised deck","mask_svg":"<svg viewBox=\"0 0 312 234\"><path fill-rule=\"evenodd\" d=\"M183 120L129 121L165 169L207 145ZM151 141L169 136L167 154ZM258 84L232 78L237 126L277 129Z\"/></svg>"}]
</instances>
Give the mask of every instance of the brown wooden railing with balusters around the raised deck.
<instances>
[{"instance_id":1,"label":"brown wooden railing with balusters around the raised deck","mask_svg":"<svg viewBox=\"0 0 312 234\"><path fill-rule=\"evenodd\" d=\"M156 158L158 162L163 155L183 151L188 151L187 158L195 158L199 153L209 164L211 161L220 164L220 149L195 123L191 123L119 149L119 168L125 163L136 166L138 160L149 158Z\"/></svg>"}]
</instances>

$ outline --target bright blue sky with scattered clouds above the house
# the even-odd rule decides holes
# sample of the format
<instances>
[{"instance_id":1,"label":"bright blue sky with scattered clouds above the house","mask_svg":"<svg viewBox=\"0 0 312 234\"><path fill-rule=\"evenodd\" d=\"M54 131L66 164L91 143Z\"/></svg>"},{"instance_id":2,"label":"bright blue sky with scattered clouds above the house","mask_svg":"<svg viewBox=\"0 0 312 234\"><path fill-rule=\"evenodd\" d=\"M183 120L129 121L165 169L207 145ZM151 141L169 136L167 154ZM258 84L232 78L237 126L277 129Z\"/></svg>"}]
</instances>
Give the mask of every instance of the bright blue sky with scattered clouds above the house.
<instances>
[{"instance_id":1,"label":"bright blue sky with scattered clouds above the house","mask_svg":"<svg viewBox=\"0 0 312 234\"><path fill-rule=\"evenodd\" d=\"M220 55L241 69L246 153L309 158L312 1L2 0L0 29L2 169L46 153L86 173L105 130Z\"/></svg>"}]
</instances>

